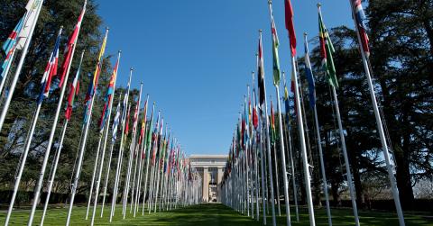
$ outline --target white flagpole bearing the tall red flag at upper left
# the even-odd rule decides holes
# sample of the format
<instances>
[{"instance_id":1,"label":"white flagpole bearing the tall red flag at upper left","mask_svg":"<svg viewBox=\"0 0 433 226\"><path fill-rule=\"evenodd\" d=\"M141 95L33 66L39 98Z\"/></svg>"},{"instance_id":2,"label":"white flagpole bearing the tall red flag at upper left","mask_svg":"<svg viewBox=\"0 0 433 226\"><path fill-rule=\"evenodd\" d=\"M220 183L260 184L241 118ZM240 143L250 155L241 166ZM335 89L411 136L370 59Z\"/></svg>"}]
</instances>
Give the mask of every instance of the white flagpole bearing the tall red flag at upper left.
<instances>
[{"instance_id":1,"label":"white flagpole bearing the tall red flag at upper left","mask_svg":"<svg viewBox=\"0 0 433 226\"><path fill-rule=\"evenodd\" d=\"M86 8L86 3L84 5L83 9L85 9L85 8ZM78 34L79 34L79 29L78 29L78 33L77 33L77 38L78 38ZM36 212L36 206L39 203L39 198L40 198L41 188L42 188L42 183L43 183L43 176L45 175L45 169L46 169L47 164L48 164L48 159L50 158L51 145L52 145L52 141L54 140L54 134L55 134L55 131L57 128L57 122L59 121L61 103L63 102L63 97L65 96L66 84L68 83L70 66L72 65L72 60L74 59L74 53L75 53L76 46L77 46L77 41L75 41L74 47L72 48L68 69L66 71L66 75L64 77L64 82L62 84L61 91L60 91L59 104L57 104L57 110L56 110L56 114L54 116L54 122L52 123L52 127L51 127L50 138L48 140L47 149L45 151L45 156L43 158L43 163L42 163L42 167L41 167L41 173L40 173L39 181L38 181L38 184L36 185L36 188L34 190L32 212L30 213L30 218L29 218L29 222L28 222L29 226L32 225L34 212ZM83 54L84 54L84 51L83 51Z\"/></svg>"}]
</instances>

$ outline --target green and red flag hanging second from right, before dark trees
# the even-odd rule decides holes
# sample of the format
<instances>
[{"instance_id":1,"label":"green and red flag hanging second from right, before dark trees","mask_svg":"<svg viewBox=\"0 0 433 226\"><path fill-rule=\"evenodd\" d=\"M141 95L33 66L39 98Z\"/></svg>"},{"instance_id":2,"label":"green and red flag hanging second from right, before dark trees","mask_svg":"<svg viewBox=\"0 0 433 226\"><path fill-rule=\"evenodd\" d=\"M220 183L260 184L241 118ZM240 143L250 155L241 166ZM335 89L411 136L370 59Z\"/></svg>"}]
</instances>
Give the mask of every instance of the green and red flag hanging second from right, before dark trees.
<instances>
[{"instance_id":1,"label":"green and red flag hanging second from right, before dark trees","mask_svg":"<svg viewBox=\"0 0 433 226\"><path fill-rule=\"evenodd\" d=\"M336 51L332 45L332 41L327 33L327 28L323 23L322 14L320 9L318 11L318 37L320 40L320 56L322 58L322 69L325 71L327 81L331 86L338 87L336 80L336 67L334 66L334 59L332 54Z\"/></svg>"}]
</instances>

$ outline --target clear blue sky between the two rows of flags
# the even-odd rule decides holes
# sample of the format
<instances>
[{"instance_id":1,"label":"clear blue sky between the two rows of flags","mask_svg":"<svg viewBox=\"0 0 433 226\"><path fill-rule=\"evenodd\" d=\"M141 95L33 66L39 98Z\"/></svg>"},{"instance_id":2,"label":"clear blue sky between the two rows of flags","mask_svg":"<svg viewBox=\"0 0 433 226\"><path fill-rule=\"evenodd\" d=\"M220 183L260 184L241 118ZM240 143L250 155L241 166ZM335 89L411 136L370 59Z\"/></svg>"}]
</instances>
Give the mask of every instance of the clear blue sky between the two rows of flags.
<instances>
[{"instance_id":1,"label":"clear blue sky between the two rows of flags","mask_svg":"<svg viewBox=\"0 0 433 226\"><path fill-rule=\"evenodd\" d=\"M328 28L354 26L347 0L321 3ZM275 95L266 0L97 0L97 4L104 25L110 27L106 52L123 51L117 84L125 86L129 68L134 67L133 86L139 88L143 82L143 93L156 102L187 154L228 153L246 85L256 68L259 29L263 29L267 94ZM272 5L281 70L289 71L284 2ZM302 54L303 32L309 39L318 35L317 1L292 0L292 5Z\"/></svg>"}]
</instances>

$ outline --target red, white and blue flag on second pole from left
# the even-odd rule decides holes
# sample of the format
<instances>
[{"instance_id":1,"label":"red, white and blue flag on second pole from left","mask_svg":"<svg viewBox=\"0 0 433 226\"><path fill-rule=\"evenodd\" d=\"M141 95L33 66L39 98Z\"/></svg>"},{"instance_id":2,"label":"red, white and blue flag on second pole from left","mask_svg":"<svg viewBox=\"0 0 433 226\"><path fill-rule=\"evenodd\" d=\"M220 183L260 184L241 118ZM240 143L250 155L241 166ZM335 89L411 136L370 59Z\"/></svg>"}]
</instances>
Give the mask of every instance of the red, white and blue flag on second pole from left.
<instances>
[{"instance_id":1,"label":"red, white and blue flag on second pole from left","mask_svg":"<svg viewBox=\"0 0 433 226\"><path fill-rule=\"evenodd\" d=\"M60 36L62 29L60 28L59 34L57 35L56 43L54 44L54 49L51 52L50 59L48 60L47 66L45 67L45 72L43 73L41 84L42 91L41 95L38 97L38 103L41 103L44 98L47 98L50 93L50 86L52 77L57 76L57 65L59 62L59 46L60 46Z\"/></svg>"}]
</instances>

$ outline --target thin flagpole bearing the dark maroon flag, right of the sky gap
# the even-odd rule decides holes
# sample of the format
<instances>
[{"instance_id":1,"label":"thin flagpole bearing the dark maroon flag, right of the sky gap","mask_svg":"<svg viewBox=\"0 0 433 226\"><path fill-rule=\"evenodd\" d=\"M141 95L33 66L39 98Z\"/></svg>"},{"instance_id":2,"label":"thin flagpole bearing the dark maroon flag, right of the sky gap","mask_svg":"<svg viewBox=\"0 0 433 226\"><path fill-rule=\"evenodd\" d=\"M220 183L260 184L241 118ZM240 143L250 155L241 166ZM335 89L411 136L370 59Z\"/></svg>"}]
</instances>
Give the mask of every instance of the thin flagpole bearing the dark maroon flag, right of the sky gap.
<instances>
[{"instance_id":1,"label":"thin flagpole bearing the dark maroon flag, right of the sky gap","mask_svg":"<svg viewBox=\"0 0 433 226\"><path fill-rule=\"evenodd\" d=\"M262 30L259 31L260 38L262 39ZM266 83L263 82L263 88L266 90ZM272 176L272 157L271 157L271 139L269 137L269 118L268 118L268 103L266 99L266 95L264 97L264 118L265 118L265 131L266 131L266 145L267 145L267 156L268 156L268 170L269 170L269 180L271 185L271 200L272 200L272 225L276 226L277 221L275 218L275 197L273 195L273 176Z\"/></svg>"}]
</instances>

